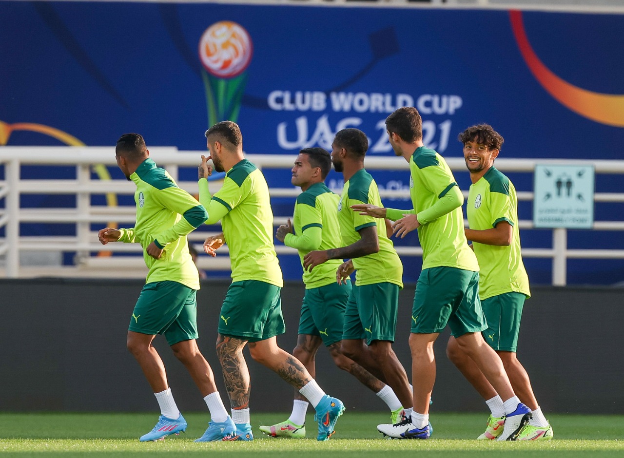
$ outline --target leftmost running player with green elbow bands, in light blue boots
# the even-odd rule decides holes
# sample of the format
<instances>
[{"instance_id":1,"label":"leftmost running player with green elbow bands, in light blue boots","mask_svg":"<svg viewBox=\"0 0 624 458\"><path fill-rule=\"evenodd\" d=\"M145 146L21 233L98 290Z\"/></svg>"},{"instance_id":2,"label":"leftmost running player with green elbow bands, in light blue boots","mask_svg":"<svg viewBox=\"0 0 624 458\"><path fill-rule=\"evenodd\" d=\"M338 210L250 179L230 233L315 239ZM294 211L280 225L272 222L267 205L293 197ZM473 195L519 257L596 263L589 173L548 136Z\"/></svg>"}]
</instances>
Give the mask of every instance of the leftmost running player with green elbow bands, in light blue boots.
<instances>
[{"instance_id":1,"label":"leftmost running player with green elbow bands, in light blue boots","mask_svg":"<svg viewBox=\"0 0 624 458\"><path fill-rule=\"evenodd\" d=\"M152 345L163 334L173 354L184 364L202 392L213 421L229 422L215 386L212 369L197 348L197 301L200 288L197 268L188 253L187 234L202 225L206 210L189 193L178 188L172 177L149 157L139 134L125 134L117 140L115 158L128 180L137 185L137 222L134 228L104 228L98 232L102 245L111 241L138 242L149 268L128 329L127 346L137 359L154 390L161 415L156 426L140 438L155 441L185 431L187 422L178 410L167 382L162 359Z\"/></svg>"}]
</instances>

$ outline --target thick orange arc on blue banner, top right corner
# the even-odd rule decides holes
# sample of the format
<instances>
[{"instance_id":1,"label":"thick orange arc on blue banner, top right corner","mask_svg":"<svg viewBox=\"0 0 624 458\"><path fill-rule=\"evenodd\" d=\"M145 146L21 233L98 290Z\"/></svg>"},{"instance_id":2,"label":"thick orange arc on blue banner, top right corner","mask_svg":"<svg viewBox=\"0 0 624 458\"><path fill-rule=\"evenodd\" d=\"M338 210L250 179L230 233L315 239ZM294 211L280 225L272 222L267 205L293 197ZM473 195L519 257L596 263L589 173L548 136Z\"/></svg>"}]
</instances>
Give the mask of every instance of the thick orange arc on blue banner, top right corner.
<instances>
[{"instance_id":1,"label":"thick orange arc on blue banner, top right corner","mask_svg":"<svg viewBox=\"0 0 624 458\"><path fill-rule=\"evenodd\" d=\"M600 94L582 89L555 75L540 61L524 30L521 11L509 11L515 41L529 70L560 104L602 124L624 127L624 95Z\"/></svg>"}]
</instances>

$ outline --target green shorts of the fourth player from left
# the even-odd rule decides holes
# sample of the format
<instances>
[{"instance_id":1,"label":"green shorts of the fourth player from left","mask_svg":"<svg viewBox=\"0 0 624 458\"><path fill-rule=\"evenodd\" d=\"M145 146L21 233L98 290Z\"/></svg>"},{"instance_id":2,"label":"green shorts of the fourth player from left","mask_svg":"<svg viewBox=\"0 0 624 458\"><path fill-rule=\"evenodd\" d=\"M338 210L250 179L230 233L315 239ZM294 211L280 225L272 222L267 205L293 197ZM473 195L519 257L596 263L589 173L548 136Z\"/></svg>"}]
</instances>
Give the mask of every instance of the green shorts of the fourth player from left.
<instances>
[{"instance_id":1,"label":"green shorts of the fourth player from left","mask_svg":"<svg viewBox=\"0 0 624 458\"><path fill-rule=\"evenodd\" d=\"M343 339L394 342L399 309L399 285L373 283L353 286L344 312Z\"/></svg>"}]
</instances>

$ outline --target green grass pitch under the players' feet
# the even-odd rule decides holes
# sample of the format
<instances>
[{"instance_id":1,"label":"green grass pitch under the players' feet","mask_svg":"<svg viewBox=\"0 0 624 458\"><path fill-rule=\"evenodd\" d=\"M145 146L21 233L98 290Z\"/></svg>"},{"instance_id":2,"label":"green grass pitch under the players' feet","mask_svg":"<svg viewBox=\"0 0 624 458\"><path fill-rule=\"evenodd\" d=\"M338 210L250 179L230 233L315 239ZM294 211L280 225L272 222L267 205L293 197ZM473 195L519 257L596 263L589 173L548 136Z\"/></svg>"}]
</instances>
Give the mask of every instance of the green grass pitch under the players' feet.
<instances>
[{"instance_id":1,"label":"green grass pitch under the players' feet","mask_svg":"<svg viewBox=\"0 0 624 458\"><path fill-rule=\"evenodd\" d=\"M308 414L309 439L273 439L258 430L261 424L283 421L288 414L253 413L255 441L195 444L207 427L208 413L187 413L186 434L165 441L139 442L157 414L11 414L0 413L2 456L126 457L384 457L418 453L421 457L622 457L624 416L550 415L555 431L550 442L475 441L483 432L482 414L433 414L434 436L428 441L382 439L376 425L388 421L383 412L346 412L327 442L316 442L316 423ZM410 455L411 456L411 455Z\"/></svg>"}]
</instances>

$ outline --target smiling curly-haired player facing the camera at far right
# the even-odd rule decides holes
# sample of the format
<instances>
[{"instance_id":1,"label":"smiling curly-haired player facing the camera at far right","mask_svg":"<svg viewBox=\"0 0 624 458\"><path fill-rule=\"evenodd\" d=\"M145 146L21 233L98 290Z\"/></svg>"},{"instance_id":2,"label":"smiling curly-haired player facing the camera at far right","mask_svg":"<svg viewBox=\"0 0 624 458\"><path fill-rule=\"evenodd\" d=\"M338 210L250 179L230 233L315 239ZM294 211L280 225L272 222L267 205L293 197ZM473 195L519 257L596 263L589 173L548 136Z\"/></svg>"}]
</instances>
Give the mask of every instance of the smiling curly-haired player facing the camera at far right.
<instances>
[{"instance_id":1,"label":"smiling curly-haired player facing the camera at far right","mask_svg":"<svg viewBox=\"0 0 624 458\"><path fill-rule=\"evenodd\" d=\"M516 357L520 318L525 298L530 297L529 277L520 254L518 199L509 178L494 167L503 137L488 124L469 127L459 135L470 171L466 238L472 241L479 261L479 297L488 327L485 341L499 354L509 381L520 401L532 410L532 419L518 440L552 439L553 431L535 399L529 375ZM451 336L447 355L487 401L492 414L479 439L497 439L503 432L502 399L474 361Z\"/></svg>"}]
</instances>

